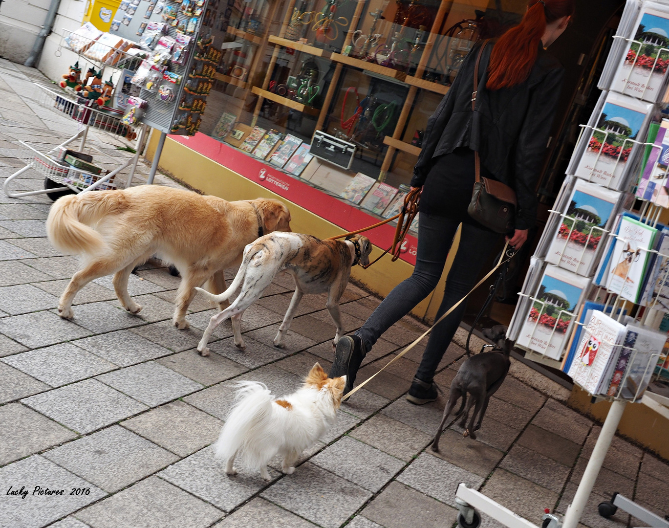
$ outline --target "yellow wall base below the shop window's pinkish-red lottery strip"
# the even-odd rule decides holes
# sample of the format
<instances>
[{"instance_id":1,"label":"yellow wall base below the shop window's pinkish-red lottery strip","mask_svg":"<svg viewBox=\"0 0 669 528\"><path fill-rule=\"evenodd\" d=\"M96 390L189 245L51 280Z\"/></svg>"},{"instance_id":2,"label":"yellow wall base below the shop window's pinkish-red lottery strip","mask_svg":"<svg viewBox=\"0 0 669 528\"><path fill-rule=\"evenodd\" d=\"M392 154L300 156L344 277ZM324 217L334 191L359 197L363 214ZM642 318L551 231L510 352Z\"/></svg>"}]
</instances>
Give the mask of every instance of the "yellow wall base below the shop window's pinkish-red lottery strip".
<instances>
[{"instance_id":1,"label":"yellow wall base below the shop window's pinkish-red lottery strip","mask_svg":"<svg viewBox=\"0 0 669 528\"><path fill-rule=\"evenodd\" d=\"M146 155L150 160L153 160L158 138L159 133L152 133L149 139ZM269 189L193 151L193 149L177 141L173 141L169 137L165 140L165 147L163 147L159 167L161 170L174 175L194 189L229 201L258 197L280 199L290 208L290 215L292 216L291 228L294 232L308 233L318 238L327 238L343 232L338 226L304 209L304 207L288 201ZM460 235L458 234L455 244L458 244L459 240ZM383 250L374 246L371 259L379 256ZM434 321L434 315L444 296L446 275L450 269L454 254L455 252L451 252L448 256L444 274L442 274L435 292L427 296L412 312L417 317L424 318L427 322ZM409 277L412 272L413 266L411 264L403 260L391 262L391 257L386 255L379 262L367 268L367 270L356 266L353 268L351 276L374 292L377 292L381 296L386 296L393 287Z\"/></svg>"}]
</instances>

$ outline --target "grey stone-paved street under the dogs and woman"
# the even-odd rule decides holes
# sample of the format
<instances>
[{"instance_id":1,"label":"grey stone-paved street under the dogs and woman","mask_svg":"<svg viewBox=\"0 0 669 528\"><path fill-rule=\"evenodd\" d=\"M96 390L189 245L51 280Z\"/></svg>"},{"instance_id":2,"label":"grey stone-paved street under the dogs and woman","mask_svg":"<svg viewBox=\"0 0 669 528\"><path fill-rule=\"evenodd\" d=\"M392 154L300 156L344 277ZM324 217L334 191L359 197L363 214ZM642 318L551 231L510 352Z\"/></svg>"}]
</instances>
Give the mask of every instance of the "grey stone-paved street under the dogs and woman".
<instances>
[{"instance_id":1,"label":"grey stone-paved street under the dogs and woman","mask_svg":"<svg viewBox=\"0 0 669 528\"><path fill-rule=\"evenodd\" d=\"M74 135L77 123L37 106L33 82L50 84L37 70L0 60L0 72L4 181L25 165L17 141L48 150ZM109 155L130 156L103 133L89 139ZM140 161L133 184L145 183L148 172ZM164 175L156 183L178 186ZM43 176L27 171L12 188L42 189ZM0 527L452 527L459 482L537 525L545 508L564 513L600 427L565 406L567 389L537 381L520 362L512 362L490 400L477 440L452 426L441 453L427 448L464 357L462 329L440 365L436 383L444 394L434 404L404 398L419 346L343 404L337 424L302 455L294 474L282 474L274 460L271 482L244 471L226 476L211 444L235 381L262 381L282 395L316 361L327 370L334 325L326 297L305 295L286 347L273 347L293 289L292 278L279 277L244 314L246 351L233 345L228 321L214 332L213 353L201 357L195 347L215 311L198 295L187 316L191 328L175 329L180 279L150 260L130 276L130 295L143 306L138 315L121 308L107 276L79 292L74 319L66 321L56 307L78 262L46 238L51 203L45 195L0 193ZM226 273L228 282L234 272ZM345 330L361 326L378 304L349 284ZM358 379L425 328L409 317L400 321L367 355ZM33 494L35 487L64 495ZM614 438L582 523L641 526L622 511L603 519L597 504L617 491L666 515L668 487L666 462ZM21 489L27 495L11 493ZM73 489L79 492L70 495ZM484 517L482 526L500 525Z\"/></svg>"}]
</instances>

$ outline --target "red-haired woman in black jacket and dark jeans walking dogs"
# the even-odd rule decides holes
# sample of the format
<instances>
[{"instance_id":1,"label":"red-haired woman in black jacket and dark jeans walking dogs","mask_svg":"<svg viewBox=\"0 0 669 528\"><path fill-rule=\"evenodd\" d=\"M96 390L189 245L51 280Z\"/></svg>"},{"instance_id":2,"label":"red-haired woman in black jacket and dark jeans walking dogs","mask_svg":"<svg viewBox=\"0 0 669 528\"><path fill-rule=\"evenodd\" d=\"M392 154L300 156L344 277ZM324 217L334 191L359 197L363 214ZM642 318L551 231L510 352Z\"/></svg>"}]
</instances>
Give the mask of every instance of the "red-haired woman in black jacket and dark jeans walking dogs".
<instances>
[{"instance_id":1,"label":"red-haired woman in black jacket and dark jeans walking dogs","mask_svg":"<svg viewBox=\"0 0 669 528\"><path fill-rule=\"evenodd\" d=\"M460 224L460 244L437 318L476 284L484 256L501 236L468 214L478 159L482 178L515 191L515 225L507 235L509 244L517 249L527 240L527 230L535 222L535 188L564 74L545 48L567 28L573 11L574 0L530 0L520 25L496 42L476 43L429 118L411 179L412 187L423 188L415 268L361 329L337 343L330 377L347 376L345 393L353 388L365 354L383 332L434 290ZM472 94L475 71L478 87ZM437 399L432 377L463 312L464 303L432 331L407 395L409 402L421 405Z\"/></svg>"}]
</instances>

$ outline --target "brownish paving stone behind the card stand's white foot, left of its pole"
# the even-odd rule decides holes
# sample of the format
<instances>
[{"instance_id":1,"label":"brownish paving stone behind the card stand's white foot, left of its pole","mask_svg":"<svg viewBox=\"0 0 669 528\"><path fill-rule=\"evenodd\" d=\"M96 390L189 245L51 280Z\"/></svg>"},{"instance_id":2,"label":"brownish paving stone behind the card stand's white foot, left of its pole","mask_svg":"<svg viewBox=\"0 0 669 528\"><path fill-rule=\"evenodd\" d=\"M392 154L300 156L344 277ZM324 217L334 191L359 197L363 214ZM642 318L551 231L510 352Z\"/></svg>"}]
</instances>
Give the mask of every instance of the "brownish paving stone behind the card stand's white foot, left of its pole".
<instances>
[{"instance_id":1,"label":"brownish paving stone behind the card stand's white foot, left of its pole","mask_svg":"<svg viewBox=\"0 0 669 528\"><path fill-rule=\"evenodd\" d=\"M558 493L503 469L495 470L481 491L489 499L537 525L541 523L544 509L553 509L559 497Z\"/></svg>"}]
</instances>

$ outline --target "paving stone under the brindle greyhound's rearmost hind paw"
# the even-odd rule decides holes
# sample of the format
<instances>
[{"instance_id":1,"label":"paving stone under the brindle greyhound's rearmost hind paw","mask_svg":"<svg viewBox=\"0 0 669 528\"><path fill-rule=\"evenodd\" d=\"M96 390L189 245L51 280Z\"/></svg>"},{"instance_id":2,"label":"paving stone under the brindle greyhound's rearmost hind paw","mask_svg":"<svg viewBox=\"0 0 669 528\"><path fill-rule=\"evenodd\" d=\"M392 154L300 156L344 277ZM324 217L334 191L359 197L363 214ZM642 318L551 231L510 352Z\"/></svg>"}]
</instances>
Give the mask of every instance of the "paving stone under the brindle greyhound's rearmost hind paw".
<instances>
[{"instance_id":1,"label":"paving stone under the brindle greyhound's rearmost hind paw","mask_svg":"<svg viewBox=\"0 0 669 528\"><path fill-rule=\"evenodd\" d=\"M218 354L203 357L197 353L197 349L163 357L157 362L198 383L202 383L205 387L248 371L248 368L244 365L230 361Z\"/></svg>"}]
</instances>

